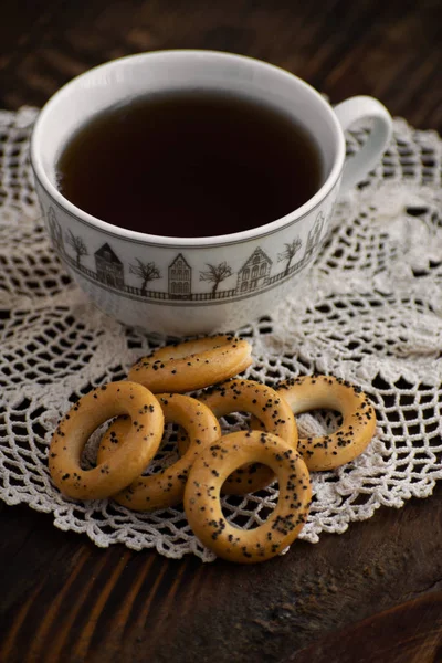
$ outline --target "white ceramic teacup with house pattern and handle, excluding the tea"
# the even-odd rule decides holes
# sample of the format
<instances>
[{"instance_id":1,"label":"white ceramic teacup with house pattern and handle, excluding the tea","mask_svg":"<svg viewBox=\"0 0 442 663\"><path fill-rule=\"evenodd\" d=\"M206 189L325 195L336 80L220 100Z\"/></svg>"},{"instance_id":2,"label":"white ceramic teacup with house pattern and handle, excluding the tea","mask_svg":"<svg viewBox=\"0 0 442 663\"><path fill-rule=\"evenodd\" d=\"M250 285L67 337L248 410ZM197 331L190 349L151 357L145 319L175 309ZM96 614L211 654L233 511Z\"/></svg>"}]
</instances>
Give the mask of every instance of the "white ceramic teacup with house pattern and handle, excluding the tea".
<instances>
[{"instance_id":1,"label":"white ceramic teacup with house pattern and handle, excluding the tea","mask_svg":"<svg viewBox=\"0 0 442 663\"><path fill-rule=\"evenodd\" d=\"M290 113L318 145L318 191L266 225L229 235L217 235L214 228L213 236L197 239L117 228L60 193L59 156L92 116L135 96L189 87L236 92ZM365 117L373 118L372 131L346 161L344 130ZM103 64L60 90L34 127L31 162L52 243L80 287L124 324L186 336L239 328L296 288L327 233L339 191L364 179L390 133L390 115L371 97L333 109L313 87L264 62L211 51L160 51Z\"/></svg>"}]
</instances>

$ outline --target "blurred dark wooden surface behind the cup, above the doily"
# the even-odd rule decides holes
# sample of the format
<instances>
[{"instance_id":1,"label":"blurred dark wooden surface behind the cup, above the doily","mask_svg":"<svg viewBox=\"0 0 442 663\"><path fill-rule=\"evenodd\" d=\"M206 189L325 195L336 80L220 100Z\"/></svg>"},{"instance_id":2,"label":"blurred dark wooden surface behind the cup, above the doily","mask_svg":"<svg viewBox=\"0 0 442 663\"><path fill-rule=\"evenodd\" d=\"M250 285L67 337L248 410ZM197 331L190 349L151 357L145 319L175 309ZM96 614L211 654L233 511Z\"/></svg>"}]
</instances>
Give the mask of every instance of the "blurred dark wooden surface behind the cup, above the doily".
<instances>
[{"instance_id":1,"label":"blurred dark wooden surface behind the cup, above the doily","mask_svg":"<svg viewBox=\"0 0 442 663\"><path fill-rule=\"evenodd\" d=\"M63 83L145 50L232 51L283 66L330 96L378 96L417 127L442 128L439 0L3 0L0 104L41 106Z\"/></svg>"}]
</instances>

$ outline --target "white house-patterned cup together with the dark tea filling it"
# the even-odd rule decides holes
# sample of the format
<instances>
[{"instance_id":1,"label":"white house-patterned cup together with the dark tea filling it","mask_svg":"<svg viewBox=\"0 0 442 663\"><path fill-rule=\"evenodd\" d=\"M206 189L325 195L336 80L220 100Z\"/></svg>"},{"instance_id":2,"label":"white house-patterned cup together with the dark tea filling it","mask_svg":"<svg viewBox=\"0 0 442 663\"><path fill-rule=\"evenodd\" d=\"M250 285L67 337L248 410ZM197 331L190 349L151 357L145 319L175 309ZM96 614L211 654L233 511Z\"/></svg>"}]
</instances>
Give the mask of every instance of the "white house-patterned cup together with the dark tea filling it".
<instances>
[{"instance_id":1,"label":"white house-patterned cup together with the dark tea filling it","mask_svg":"<svg viewBox=\"0 0 442 663\"><path fill-rule=\"evenodd\" d=\"M373 126L346 159L344 131ZM379 161L391 117L335 108L264 62L160 51L97 66L43 107L31 140L52 244L95 304L172 336L238 329L301 282L337 197Z\"/></svg>"}]
</instances>

